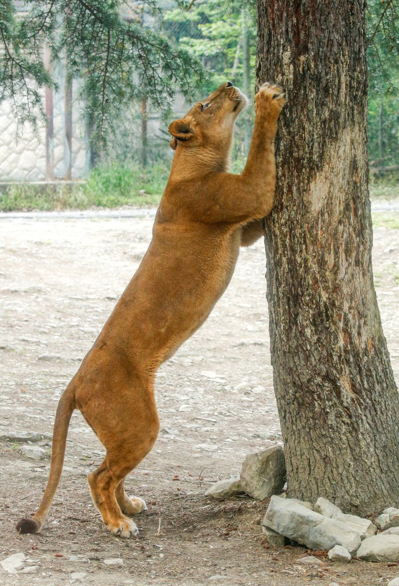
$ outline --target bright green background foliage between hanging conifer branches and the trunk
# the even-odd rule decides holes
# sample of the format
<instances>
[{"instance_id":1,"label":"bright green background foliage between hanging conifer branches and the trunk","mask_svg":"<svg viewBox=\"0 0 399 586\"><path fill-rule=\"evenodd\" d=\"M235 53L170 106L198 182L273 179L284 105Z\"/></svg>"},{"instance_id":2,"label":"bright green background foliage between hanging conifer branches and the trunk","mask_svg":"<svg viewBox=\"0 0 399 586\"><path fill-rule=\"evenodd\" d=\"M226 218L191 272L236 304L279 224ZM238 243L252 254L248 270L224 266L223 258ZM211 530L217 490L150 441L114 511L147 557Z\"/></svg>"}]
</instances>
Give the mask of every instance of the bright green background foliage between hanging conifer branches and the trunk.
<instances>
[{"instance_id":1,"label":"bright green background foliage between hanging conifer branches and the trunk","mask_svg":"<svg viewBox=\"0 0 399 586\"><path fill-rule=\"evenodd\" d=\"M253 2L240 0L196 0L179 2L180 8L165 11L165 33L210 72L204 93L209 94L226 81L241 88L250 98L255 89L257 47ZM181 8L191 6L189 11ZM233 167L242 171L254 122L254 108L240 114L234 141Z\"/></svg>"}]
</instances>

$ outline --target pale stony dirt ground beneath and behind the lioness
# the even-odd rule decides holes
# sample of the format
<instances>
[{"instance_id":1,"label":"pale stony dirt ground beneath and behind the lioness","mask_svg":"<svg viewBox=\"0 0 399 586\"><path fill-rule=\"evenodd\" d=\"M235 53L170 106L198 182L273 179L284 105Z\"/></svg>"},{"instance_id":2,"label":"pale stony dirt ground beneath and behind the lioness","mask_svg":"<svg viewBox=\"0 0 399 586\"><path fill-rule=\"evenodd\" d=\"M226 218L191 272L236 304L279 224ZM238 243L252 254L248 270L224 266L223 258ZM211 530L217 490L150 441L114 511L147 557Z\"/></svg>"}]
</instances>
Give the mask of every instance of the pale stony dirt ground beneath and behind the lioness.
<instances>
[{"instance_id":1,"label":"pale stony dirt ground beneath and behind the lioness","mask_svg":"<svg viewBox=\"0 0 399 586\"><path fill-rule=\"evenodd\" d=\"M399 217L397 202L387 205L380 213ZM138 267L153 217L154 210L134 209L0 215L0 435L52 433L57 399ZM377 227L378 301L399 382L398 252L399 230ZM386 586L399 575L399 565L360 561L303 567L296 563L303 548L276 550L262 537L267 502L204 497L210 483L240 472L245 454L279 439L264 273L260 241L241 252L213 314L158 373L161 432L127 481L148 504L135 518L138 538L112 536L91 502L86 475L104 451L79 413L39 535L19 536L14 526L39 505L49 440L39 442L47 457L38 461L21 455L20 444L3 442L0 560L22 552L35 568L0 568L3 584ZM104 563L113 558L122 561Z\"/></svg>"}]
</instances>

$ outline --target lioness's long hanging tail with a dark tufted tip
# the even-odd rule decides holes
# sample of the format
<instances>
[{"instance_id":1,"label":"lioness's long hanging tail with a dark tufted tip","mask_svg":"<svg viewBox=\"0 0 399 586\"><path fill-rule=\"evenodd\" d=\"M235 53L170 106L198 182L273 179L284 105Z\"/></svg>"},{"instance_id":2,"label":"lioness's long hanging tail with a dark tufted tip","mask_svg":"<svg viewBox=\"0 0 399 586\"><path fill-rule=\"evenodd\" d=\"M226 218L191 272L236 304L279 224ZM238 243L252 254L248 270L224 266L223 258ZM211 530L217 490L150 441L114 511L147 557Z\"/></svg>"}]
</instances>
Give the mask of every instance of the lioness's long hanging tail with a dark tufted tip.
<instances>
[{"instance_id":1,"label":"lioness's long hanging tail with a dark tufted tip","mask_svg":"<svg viewBox=\"0 0 399 586\"><path fill-rule=\"evenodd\" d=\"M42 523L46 519L51 503L53 502L58 483L60 482L62 467L64 464L67 432L71 415L75 407L75 391L73 386L69 384L69 386L67 386L67 388L64 390L57 407L53 430L50 475L42 502L40 503L39 509L37 509L33 517L25 517L24 519L18 521L16 524L16 530L18 533L39 533L40 527L42 527Z\"/></svg>"}]
</instances>

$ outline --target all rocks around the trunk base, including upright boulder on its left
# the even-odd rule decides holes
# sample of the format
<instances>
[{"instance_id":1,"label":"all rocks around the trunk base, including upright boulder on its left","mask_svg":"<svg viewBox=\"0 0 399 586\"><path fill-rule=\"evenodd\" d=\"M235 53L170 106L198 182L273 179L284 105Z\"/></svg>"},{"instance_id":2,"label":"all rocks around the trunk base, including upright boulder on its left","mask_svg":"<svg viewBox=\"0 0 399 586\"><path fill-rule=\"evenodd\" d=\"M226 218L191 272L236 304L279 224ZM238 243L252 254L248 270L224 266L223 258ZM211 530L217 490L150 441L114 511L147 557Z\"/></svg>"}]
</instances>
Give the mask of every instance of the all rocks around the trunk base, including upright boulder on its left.
<instances>
[{"instance_id":1,"label":"all rocks around the trunk base, including upright boulder on its left","mask_svg":"<svg viewBox=\"0 0 399 586\"><path fill-rule=\"evenodd\" d=\"M269 442L261 452L245 457L240 475L215 482L205 496L229 499L247 494L258 500L271 497L262 521L262 532L271 546L283 547L293 540L312 550L328 551L330 560L347 563L356 556L367 561L399 562L399 509L383 510L374 525L369 519L346 515L321 497L313 506L277 496L284 482L284 451ZM390 586L399 586L399 579L395 580Z\"/></svg>"}]
</instances>

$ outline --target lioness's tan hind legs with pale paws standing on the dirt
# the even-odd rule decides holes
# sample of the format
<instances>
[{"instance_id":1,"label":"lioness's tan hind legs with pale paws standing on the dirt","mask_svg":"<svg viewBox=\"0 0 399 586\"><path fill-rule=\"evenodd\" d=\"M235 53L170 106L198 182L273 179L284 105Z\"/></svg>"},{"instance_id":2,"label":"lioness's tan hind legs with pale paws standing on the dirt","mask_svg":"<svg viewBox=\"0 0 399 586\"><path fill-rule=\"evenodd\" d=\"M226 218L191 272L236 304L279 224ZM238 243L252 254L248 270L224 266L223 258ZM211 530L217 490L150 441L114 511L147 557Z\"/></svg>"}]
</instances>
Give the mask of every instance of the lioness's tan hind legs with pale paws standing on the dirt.
<instances>
[{"instance_id":1,"label":"lioness's tan hind legs with pale paws standing on the dirt","mask_svg":"<svg viewBox=\"0 0 399 586\"><path fill-rule=\"evenodd\" d=\"M123 513L135 515L146 506L142 499L128 498L124 479L148 454L158 435L152 386L138 380L118 389L105 386L81 412L107 451L104 461L87 477L94 504L112 533L131 537L137 534L137 526Z\"/></svg>"}]
</instances>

